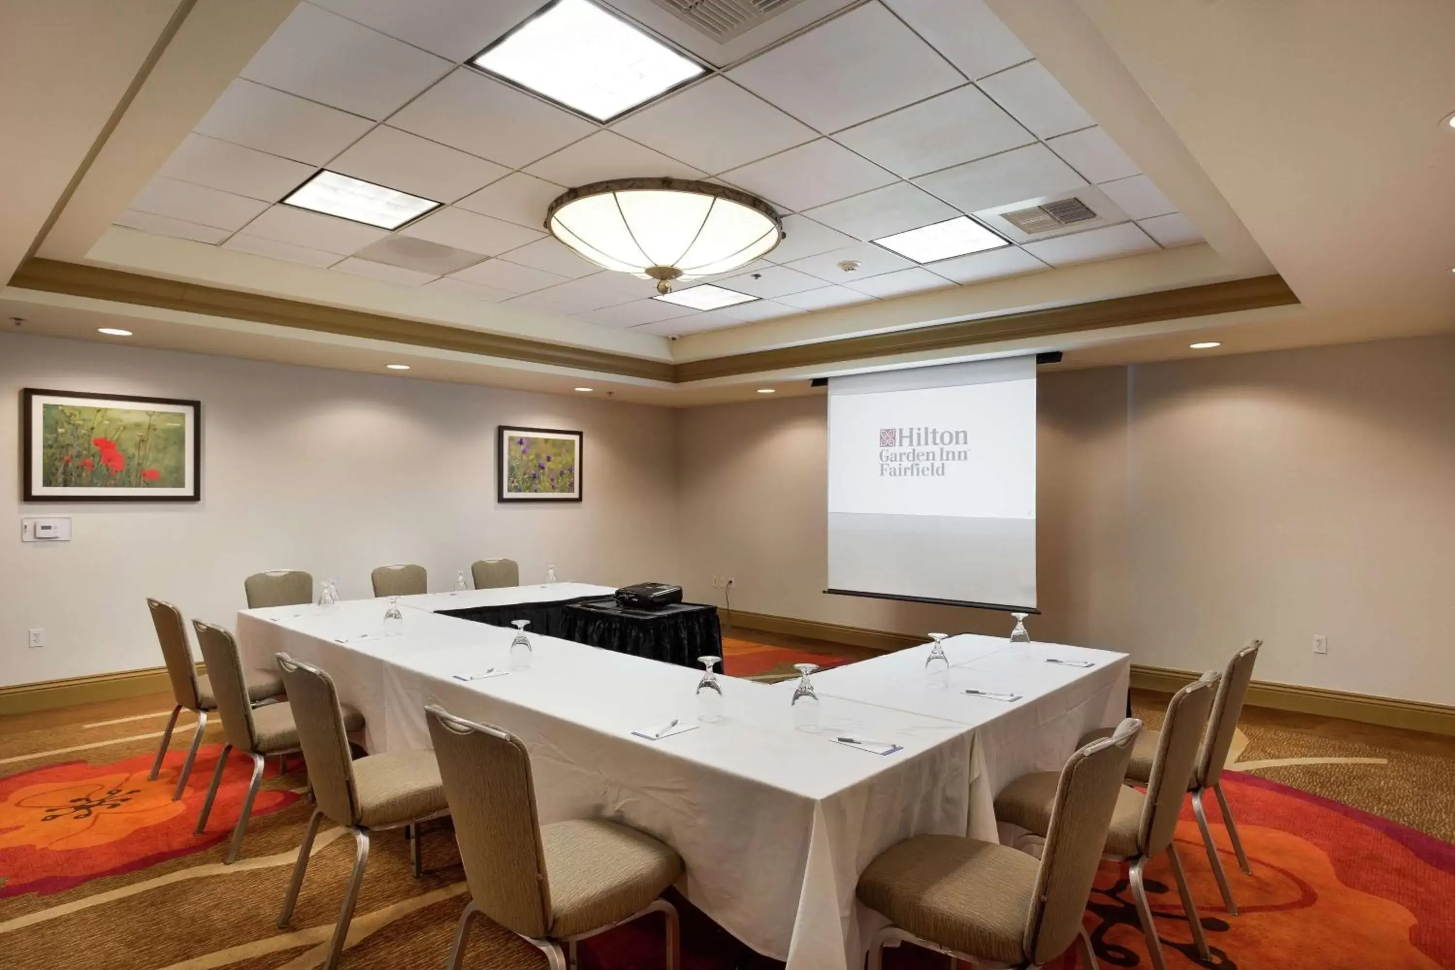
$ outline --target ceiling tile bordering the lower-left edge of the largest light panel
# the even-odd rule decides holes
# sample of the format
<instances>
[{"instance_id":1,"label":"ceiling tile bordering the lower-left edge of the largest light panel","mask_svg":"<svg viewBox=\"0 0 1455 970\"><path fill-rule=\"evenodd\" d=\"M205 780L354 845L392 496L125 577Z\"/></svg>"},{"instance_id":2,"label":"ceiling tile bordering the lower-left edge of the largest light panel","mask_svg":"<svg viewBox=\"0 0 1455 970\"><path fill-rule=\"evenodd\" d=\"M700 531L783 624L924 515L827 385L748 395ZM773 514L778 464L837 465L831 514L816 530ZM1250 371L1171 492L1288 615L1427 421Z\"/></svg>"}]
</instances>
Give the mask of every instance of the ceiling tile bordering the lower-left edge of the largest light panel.
<instances>
[{"instance_id":1,"label":"ceiling tile bordering the lower-left edge of the largest light panel","mask_svg":"<svg viewBox=\"0 0 1455 970\"><path fill-rule=\"evenodd\" d=\"M466 67L406 105L388 124L511 169L597 129L589 121Z\"/></svg>"}]
</instances>

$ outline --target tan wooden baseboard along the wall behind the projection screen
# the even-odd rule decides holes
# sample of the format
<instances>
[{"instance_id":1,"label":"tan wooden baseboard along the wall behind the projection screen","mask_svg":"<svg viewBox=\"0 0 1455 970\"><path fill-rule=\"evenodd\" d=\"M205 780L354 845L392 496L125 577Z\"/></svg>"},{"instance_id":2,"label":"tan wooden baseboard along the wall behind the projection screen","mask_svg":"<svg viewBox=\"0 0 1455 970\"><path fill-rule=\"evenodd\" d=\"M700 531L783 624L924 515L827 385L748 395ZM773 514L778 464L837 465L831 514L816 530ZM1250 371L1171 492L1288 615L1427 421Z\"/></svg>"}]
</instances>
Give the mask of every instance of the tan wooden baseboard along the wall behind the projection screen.
<instances>
[{"instance_id":1,"label":"tan wooden baseboard along the wall behind the projection screen","mask_svg":"<svg viewBox=\"0 0 1455 970\"><path fill-rule=\"evenodd\" d=\"M872 650L901 650L904 647L912 647L924 643L924 637L914 637L902 633L864 630L861 627L841 627L831 622L794 620L792 617L773 617L770 614L733 611L732 620L735 625L745 630L765 630L768 633L781 633L809 640L826 640L829 643L845 643L854 647L869 647ZM1142 663L1132 665L1132 686L1145 691L1174 694L1187 684L1192 684L1197 679L1197 676L1199 675L1192 670L1155 668ZM1254 681L1248 685L1247 702L1254 707L1272 707L1279 711L1296 711L1299 714L1315 714L1320 717L1342 717L1349 721L1360 721L1365 724L1404 727L1408 730L1429 731L1432 734L1455 736L1455 707L1427 704L1424 701L1403 701L1392 697L1374 697L1369 694L1350 694L1347 691L1331 691L1318 686Z\"/></svg>"}]
</instances>

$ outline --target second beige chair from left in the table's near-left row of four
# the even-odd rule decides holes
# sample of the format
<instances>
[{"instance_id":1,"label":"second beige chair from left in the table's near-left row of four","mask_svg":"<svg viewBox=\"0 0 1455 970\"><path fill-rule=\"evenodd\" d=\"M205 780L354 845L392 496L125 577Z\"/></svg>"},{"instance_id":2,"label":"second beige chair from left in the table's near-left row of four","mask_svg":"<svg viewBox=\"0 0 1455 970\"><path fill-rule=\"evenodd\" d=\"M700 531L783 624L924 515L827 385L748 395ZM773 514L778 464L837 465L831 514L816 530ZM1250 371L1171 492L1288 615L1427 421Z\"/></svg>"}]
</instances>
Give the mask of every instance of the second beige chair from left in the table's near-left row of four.
<instances>
[{"instance_id":1,"label":"second beige chair from left in the table's near-left row of four","mask_svg":"<svg viewBox=\"0 0 1455 970\"><path fill-rule=\"evenodd\" d=\"M233 841L227 846L223 858L226 865L237 861L243 849L243 836L247 833L247 816L253 811L253 800L258 797L258 787L263 779L263 762L266 758L294 755L298 747L298 730L294 726L292 704L269 704L253 710L247 705L243 694L243 662L237 653L237 643L233 634L210 622L194 620L196 643L202 647L202 657L212 676L217 691L217 708L223 716L223 730L227 734L227 745L217 758L217 769L212 772L212 784L207 790L207 801L196 817L195 835L207 830L207 820L212 814L212 801L217 790L223 784L223 772L227 768L227 756L234 750L252 758L253 777L247 782L247 794L243 795L243 807L237 813L233 825ZM345 721L349 730L361 730L364 718L358 711L351 710Z\"/></svg>"}]
</instances>

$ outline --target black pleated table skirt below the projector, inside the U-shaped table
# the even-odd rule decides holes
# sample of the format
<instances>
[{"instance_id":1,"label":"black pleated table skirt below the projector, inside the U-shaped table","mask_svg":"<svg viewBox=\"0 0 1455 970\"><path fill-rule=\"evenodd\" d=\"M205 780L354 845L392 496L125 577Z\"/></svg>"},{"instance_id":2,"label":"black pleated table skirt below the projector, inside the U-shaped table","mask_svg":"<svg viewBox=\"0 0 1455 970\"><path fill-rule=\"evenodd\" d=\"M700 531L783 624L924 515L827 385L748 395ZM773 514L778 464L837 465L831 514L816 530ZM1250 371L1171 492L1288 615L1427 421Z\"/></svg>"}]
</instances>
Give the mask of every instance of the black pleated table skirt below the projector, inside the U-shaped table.
<instances>
[{"instance_id":1,"label":"black pleated table skirt below the projector, inside the U-shaped table","mask_svg":"<svg viewBox=\"0 0 1455 970\"><path fill-rule=\"evenodd\" d=\"M512 620L530 620L527 633L687 668L701 666L697 657L720 657L723 653L717 608L710 604L623 609L614 599L585 596L553 604L442 609L441 614L492 627L509 627Z\"/></svg>"}]
</instances>

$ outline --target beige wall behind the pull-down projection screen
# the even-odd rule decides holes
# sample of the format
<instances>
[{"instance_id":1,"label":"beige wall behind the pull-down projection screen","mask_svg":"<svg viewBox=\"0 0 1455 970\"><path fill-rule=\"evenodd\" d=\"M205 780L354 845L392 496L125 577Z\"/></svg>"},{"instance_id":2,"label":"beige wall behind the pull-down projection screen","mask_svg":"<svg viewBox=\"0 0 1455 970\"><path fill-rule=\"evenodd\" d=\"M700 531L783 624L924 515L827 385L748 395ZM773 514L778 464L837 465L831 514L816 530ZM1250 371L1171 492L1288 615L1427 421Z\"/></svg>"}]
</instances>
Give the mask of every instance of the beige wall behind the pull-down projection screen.
<instances>
[{"instance_id":1,"label":"beige wall behind the pull-down projection screen","mask_svg":"<svg viewBox=\"0 0 1455 970\"><path fill-rule=\"evenodd\" d=\"M688 593L732 576L748 611L1004 631L821 592L824 407L679 414ZM1261 637L1261 679L1455 704L1455 339L1042 368L1039 462L1035 636L1180 669Z\"/></svg>"}]
</instances>

